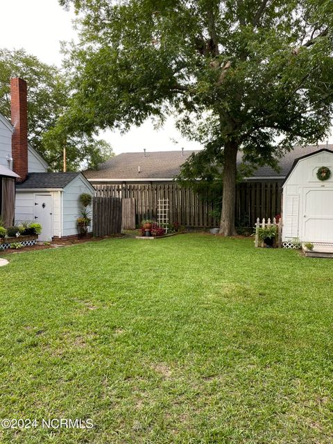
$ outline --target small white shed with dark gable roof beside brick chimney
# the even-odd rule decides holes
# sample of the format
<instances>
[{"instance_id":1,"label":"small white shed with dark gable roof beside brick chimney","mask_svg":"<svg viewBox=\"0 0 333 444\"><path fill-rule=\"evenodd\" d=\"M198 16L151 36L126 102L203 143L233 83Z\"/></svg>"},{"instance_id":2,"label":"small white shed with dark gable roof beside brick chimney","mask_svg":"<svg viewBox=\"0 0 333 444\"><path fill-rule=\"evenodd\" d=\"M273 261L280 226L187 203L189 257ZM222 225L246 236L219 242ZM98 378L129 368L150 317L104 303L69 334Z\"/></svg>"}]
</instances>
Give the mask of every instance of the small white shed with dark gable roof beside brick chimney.
<instances>
[{"instance_id":1,"label":"small white shed with dark gable roof beside brick chimney","mask_svg":"<svg viewBox=\"0 0 333 444\"><path fill-rule=\"evenodd\" d=\"M40 241L76 237L78 198L83 193L94 196L94 191L82 173L29 173L16 187L15 221L40 223ZM92 218L92 208L87 210Z\"/></svg>"}]
</instances>

